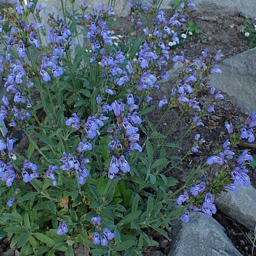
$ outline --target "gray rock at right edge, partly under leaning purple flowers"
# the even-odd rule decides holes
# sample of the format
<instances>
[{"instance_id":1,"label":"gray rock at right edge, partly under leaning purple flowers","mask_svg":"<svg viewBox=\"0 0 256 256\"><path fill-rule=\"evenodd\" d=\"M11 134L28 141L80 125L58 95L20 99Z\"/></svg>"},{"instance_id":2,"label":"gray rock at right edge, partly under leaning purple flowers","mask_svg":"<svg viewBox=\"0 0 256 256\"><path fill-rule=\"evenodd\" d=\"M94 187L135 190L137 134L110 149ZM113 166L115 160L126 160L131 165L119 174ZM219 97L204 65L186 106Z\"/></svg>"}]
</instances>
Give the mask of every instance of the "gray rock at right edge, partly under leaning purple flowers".
<instances>
[{"instance_id":1,"label":"gray rock at right edge, partly under leaning purple flowers","mask_svg":"<svg viewBox=\"0 0 256 256\"><path fill-rule=\"evenodd\" d=\"M217 208L246 228L254 230L256 225L256 189L238 187L238 194L229 191L215 198Z\"/></svg>"}]
</instances>

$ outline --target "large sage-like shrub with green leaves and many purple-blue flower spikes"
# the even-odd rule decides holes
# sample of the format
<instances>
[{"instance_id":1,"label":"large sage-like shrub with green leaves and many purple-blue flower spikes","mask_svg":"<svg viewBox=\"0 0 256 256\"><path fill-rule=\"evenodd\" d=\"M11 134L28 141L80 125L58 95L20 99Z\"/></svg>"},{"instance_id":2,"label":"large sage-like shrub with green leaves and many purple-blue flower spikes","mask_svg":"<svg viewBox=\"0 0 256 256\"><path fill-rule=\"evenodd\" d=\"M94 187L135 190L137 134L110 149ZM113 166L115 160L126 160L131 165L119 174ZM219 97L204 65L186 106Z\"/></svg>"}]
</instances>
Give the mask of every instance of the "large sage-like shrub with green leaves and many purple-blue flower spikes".
<instances>
[{"instance_id":1,"label":"large sage-like shrub with green leaves and many purple-blue flower spikes","mask_svg":"<svg viewBox=\"0 0 256 256\"><path fill-rule=\"evenodd\" d=\"M85 1L72 15L63 10L63 19L50 13L46 25L43 6L18 0L15 11L1 18L6 94L0 119L10 133L0 140L0 239L10 238L20 255L74 255L78 244L94 255L141 255L143 247L158 244L151 230L169 239L166 229L174 219L187 222L191 211L211 217L214 196L250 185L245 163L252 157L246 150L237 157L231 147L241 139L254 141L256 113L225 124L230 139L172 189L178 180L167 177L164 167L178 167L205 140L195 134L191 149L176 162L165 149L179 145L165 140L186 112L195 114L192 132L214 113L215 101L223 100L208 85L210 74L221 73L222 54L205 49L191 60L182 51L172 56L170 43L179 42L175 29L185 18L178 12L166 17L159 4L142 1L132 6L150 10L146 18L139 15L140 36L116 43L110 31L114 4L90 13ZM193 6L190 0L181 4ZM147 116L155 108L154 90L168 77L164 66L170 58L182 67L170 95L158 102L163 115L153 125ZM202 94L206 100L199 102ZM160 134L170 109L179 116ZM20 131L28 141L21 152L15 149ZM221 168L210 181L202 172L213 164Z\"/></svg>"}]
</instances>

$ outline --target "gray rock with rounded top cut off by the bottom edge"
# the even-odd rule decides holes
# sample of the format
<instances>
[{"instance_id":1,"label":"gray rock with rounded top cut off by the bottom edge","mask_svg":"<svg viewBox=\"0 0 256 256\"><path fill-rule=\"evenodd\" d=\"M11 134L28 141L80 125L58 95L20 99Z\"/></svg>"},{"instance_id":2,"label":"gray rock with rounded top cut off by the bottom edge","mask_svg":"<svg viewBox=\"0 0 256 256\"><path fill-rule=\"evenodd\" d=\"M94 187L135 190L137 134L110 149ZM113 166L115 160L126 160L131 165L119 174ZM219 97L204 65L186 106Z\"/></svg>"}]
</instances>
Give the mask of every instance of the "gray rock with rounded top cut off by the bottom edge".
<instances>
[{"instance_id":1,"label":"gray rock with rounded top cut off by the bottom edge","mask_svg":"<svg viewBox=\"0 0 256 256\"><path fill-rule=\"evenodd\" d=\"M200 212L190 217L188 223L175 223L169 256L242 256L218 221Z\"/></svg>"}]
</instances>

